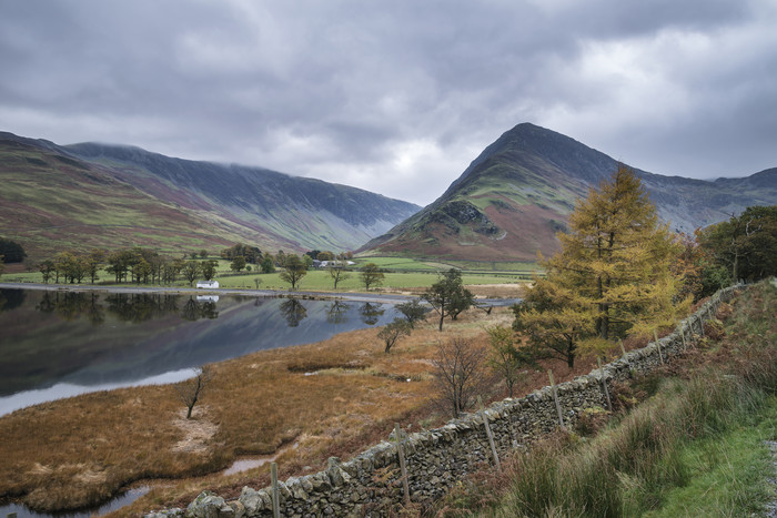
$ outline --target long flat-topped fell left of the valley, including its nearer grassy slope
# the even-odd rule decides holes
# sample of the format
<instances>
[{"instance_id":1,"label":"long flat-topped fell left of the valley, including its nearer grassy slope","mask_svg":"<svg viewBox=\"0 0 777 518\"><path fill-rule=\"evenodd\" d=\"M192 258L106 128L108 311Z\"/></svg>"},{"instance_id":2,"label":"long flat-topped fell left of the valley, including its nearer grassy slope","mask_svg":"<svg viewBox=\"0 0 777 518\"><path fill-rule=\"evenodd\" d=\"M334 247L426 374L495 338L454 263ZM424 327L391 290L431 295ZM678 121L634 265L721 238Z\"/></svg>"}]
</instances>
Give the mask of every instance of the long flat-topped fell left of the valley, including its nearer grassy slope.
<instances>
[{"instance_id":1,"label":"long flat-topped fell left of the valley, including its nearer grassy slope","mask_svg":"<svg viewBox=\"0 0 777 518\"><path fill-rule=\"evenodd\" d=\"M0 235L34 260L68 248L355 250L421 207L261 167L0 132Z\"/></svg>"}]
</instances>

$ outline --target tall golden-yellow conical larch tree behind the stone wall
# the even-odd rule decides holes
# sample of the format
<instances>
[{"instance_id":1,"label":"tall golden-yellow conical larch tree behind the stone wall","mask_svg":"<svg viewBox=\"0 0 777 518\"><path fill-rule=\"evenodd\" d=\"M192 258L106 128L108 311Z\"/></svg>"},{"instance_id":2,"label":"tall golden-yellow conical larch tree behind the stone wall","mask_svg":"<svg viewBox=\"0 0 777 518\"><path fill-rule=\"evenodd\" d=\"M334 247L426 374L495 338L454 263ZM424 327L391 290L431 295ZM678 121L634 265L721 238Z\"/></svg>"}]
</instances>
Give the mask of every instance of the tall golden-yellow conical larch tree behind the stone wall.
<instances>
[{"instance_id":1,"label":"tall golden-yellow conical larch tree behind the stone wall","mask_svg":"<svg viewBox=\"0 0 777 518\"><path fill-rule=\"evenodd\" d=\"M562 250L542 262L546 278L516 311L515 327L534 346L566 342L569 366L579 351L674 324L690 302L675 304L680 280L670 266L678 246L639 177L623 164L578 201L569 232L558 238Z\"/></svg>"}]
</instances>

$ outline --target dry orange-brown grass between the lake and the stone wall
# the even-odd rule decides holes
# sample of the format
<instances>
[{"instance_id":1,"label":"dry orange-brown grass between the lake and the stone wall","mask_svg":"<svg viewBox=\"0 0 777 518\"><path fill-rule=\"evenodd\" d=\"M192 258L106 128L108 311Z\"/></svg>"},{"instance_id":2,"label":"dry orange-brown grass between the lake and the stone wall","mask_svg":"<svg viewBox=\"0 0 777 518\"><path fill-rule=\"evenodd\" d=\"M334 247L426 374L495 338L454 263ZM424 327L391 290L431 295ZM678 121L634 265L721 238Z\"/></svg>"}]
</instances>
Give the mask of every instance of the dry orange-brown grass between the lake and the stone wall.
<instances>
[{"instance_id":1,"label":"dry orange-brown grass between the lake and the stone wall","mask_svg":"<svg viewBox=\"0 0 777 518\"><path fill-rule=\"evenodd\" d=\"M446 417L430 403L435 344L460 336L485 346L484 328L512 318L508 308L491 315L472 309L446 322L442 333L432 318L390 354L379 329L369 328L214 364L213 380L189 421L171 386L18 410L0 418L0 496L54 510L100 502L138 480L179 479L154 483L149 495L120 511L134 516L185 506L206 488L236 496L244 485L269 484L268 465L229 477L218 473L239 456L285 448L278 458L282 477L317 471L330 456L347 459L386 438L395 421L412 430L442 424ZM593 362L582 359L574 370L559 362L543 367L563 382L591 370ZM526 373L516 389L525 394L546 384L546 372ZM491 394L504 396L502 384Z\"/></svg>"}]
</instances>

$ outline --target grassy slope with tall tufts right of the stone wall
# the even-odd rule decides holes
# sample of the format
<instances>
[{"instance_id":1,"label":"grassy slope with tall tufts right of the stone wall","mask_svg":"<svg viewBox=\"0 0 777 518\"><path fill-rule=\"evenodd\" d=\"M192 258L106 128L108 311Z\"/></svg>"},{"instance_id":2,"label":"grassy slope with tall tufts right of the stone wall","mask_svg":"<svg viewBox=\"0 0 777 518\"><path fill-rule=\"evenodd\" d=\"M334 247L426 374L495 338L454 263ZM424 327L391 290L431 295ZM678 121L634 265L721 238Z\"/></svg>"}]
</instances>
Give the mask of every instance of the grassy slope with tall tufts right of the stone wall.
<instances>
[{"instance_id":1,"label":"grassy slope with tall tufts right of the stone wall","mask_svg":"<svg viewBox=\"0 0 777 518\"><path fill-rule=\"evenodd\" d=\"M507 475L475 478L441 516L750 516L773 489L777 437L777 290L736 303L723 341L704 339L670 370L616 400L657 394L593 439L558 436L517 456ZM722 326L709 326L714 335ZM719 338L718 338L719 339ZM678 378L663 380L667 374ZM585 423L585 421L584 421ZM589 421L588 421L589 423ZM596 429L578 428L578 433ZM501 495L501 496L500 496ZM476 509L476 510L473 510Z\"/></svg>"}]
</instances>

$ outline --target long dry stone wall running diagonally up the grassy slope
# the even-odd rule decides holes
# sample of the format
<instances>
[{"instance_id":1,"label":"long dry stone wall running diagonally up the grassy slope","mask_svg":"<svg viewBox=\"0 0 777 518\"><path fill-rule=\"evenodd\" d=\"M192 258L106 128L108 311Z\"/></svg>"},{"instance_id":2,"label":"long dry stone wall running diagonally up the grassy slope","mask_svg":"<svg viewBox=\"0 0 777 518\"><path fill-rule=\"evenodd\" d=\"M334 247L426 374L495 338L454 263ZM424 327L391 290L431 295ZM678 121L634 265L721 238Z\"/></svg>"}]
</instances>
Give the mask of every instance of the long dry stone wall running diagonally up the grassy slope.
<instances>
[{"instance_id":1,"label":"long dry stone wall running diagonally up the grassy slope","mask_svg":"<svg viewBox=\"0 0 777 518\"><path fill-rule=\"evenodd\" d=\"M564 424L572 427L586 408L606 406L602 378L606 384L625 380L633 373L646 374L680 354L694 335L704 333L704 322L729 301L741 286L716 293L677 329L646 347L627 353L585 376L556 386ZM685 338L685 339L684 339ZM403 436L412 501L440 498L468 474L494 463L483 418L487 417L500 456L522 448L558 427L553 388L544 387L518 399L492 404L482 413L455 419L441 428ZM291 477L279 483L280 516L385 516L402 505L404 491L395 434L352 460L332 457L324 471ZM167 509L148 517L186 516L202 518L272 517L270 488L244 487L240 498L225 501L202 492L186 509Z\"/></svg>"}]
</instances>

